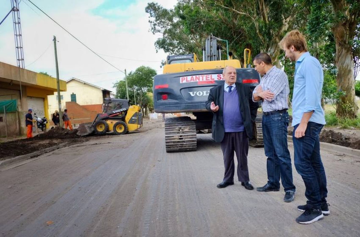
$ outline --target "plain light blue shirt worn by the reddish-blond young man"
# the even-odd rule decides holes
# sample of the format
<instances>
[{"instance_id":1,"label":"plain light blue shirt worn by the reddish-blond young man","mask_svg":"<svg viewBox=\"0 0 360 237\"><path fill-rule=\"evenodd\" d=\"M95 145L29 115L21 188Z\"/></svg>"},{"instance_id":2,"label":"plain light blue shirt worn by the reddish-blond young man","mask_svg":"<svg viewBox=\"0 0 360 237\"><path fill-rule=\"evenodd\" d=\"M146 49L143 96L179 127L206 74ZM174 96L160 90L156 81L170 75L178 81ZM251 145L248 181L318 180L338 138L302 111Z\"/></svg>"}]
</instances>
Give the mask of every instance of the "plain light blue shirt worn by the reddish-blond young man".
<instances>
[{"instance_id":1,"label":"plain light blue shirt worn by the reddish-blond young man","mask_svg":"<svg viewBox=\"0 0 360 237\"><path fill-rule=\"evenodd\" d=\"M292 126L299 124L302 115L314 111L310 122L326 124L324 110L321 108L321 92L324 73L318 59L306 52L295 63L295 81L293 91Z\"/></svg>"}]
</instances>

